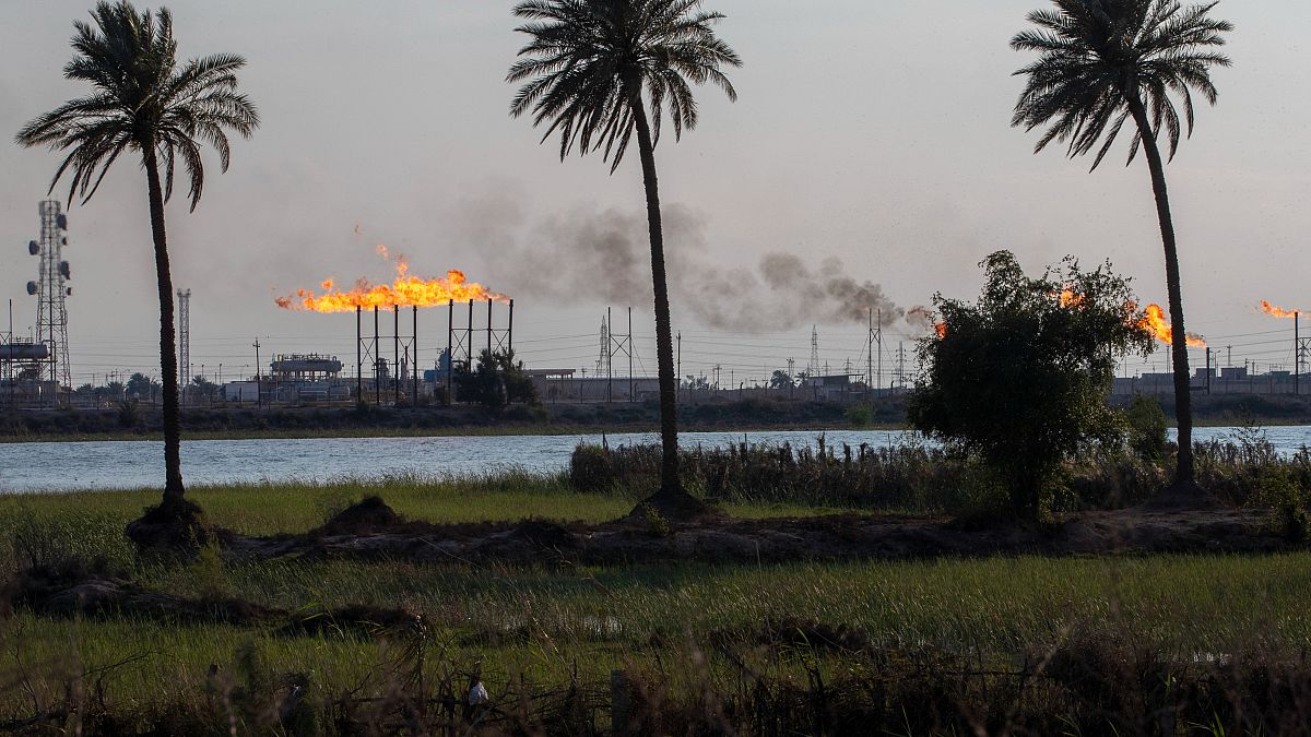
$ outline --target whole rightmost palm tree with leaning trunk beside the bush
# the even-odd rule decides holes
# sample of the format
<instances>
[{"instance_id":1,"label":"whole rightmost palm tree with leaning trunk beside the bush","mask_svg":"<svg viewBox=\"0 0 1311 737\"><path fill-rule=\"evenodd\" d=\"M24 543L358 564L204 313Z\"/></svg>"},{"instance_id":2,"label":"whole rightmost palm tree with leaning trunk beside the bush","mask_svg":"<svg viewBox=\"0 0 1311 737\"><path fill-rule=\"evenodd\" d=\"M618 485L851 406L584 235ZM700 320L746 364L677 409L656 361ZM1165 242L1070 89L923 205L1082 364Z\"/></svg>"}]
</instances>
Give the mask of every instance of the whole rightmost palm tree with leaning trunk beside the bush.
<instances>
[{"instance_id":1,"label":"whole rightmost palm tree with leaning trunk beside the bush","mask_svg":"<svg viewBox=\"0 0 1311 737\"><path fill-rule=\"evenodd\" d=\"M1175 0L1053 0L1054 9L1029 13L1029 29L1011 39L1017 51L1037 51L1038 59L1015 72L1028 77L1015 106L1012 126L1046 126L1042 151L1053 140L1068 143L1070 157L1096 148L1092 168L1101 164L1121 127L1134 122L1127 164L1138 149L1147 155L1162 241L1175 372L1175 413L1179 421L1179 464L1172 489L1200 493L1193 473L1193 414L1189 395L1184 300L1179 279L1175 224L1165 193L1165 168L1156 139L1164 129L1169 159L1179 149L1183 102L1188 135L1193 132L1193 94L1215 104L1210 68L1227 67L1214 51L1224 43L1231 24L1210 17L1217 3L1184 8ZM1100 142L1100 147L1097 146ZM1126 164L1126 165L1127 165Z\"/></svg>"}]
</instances>

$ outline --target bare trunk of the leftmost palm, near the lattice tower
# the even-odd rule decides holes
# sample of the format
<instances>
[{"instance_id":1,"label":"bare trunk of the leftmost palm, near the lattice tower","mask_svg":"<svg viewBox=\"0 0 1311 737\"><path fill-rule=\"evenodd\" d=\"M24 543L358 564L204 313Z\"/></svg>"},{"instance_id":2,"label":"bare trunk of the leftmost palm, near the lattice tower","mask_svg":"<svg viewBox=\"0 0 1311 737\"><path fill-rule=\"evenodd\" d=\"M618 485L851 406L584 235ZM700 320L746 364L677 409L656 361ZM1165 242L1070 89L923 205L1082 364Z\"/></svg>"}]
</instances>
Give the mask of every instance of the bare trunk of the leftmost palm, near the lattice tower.
<instances>
[{"instance_id":1,"label":"bare trunk of the leftmost palm, near the lattice tower","mask_svg":"<svg viewBox=\"0 0 1311 737\"><path fill-rule=\"evenodd\" d=\"M155 237L155 278L160 290L160 374L164 382L164 509L180 509L182 494L182 412L178 407L177 338L173 333L173 277L164 231L164 191L153 146L142 146L151 195L151 235Z\"/></svg>"}]
</instances>

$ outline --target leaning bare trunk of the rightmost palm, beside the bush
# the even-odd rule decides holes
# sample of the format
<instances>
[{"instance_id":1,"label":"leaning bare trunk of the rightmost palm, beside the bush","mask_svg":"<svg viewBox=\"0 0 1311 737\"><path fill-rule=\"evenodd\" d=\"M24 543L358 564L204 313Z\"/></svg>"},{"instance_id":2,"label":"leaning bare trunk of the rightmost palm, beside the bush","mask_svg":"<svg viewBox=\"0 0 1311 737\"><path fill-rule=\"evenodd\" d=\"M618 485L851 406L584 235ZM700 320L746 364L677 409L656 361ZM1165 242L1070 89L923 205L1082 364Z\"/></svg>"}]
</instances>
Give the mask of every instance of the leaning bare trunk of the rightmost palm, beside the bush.
<instances>
[{"instance_id":1,"label":"leaning bare trunk of the rightmost palm, beside the bush","mask_svg":"<svg viewBox=\"0 0 1311 737\"><path fill-rule=\"evenodd\" d=\"M1179 278L1179 250L1175 245L1175 223L1169 216L1169 197L1165 193L1165 167L1147 109L1137 88L1127 93L1129 110L1138 123L1143 152L1151 169L1151 186L1156 195L1156 216L1160 220L1160 239L1165 245L1165 290L1169 295L1171 353L1175 374L1175 418L1179 422L1179 463L1175 471L1175 489L1196 487L1193 472L1193 395L1188 371L1188 334L1184 332L1184 296Z\"/></svg>"}]
</instances>

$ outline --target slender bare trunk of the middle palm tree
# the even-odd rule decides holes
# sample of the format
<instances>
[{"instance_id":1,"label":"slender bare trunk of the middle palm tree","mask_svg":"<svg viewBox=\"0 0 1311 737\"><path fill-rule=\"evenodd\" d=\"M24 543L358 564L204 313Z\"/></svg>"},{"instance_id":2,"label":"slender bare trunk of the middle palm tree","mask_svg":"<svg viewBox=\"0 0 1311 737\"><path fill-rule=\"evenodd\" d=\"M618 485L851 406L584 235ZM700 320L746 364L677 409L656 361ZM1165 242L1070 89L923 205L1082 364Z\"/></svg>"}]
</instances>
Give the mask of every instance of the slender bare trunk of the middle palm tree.
<instances>
[{"instance_id":1,"label":"slender bare trunk of the middle palm tree","mask_svg":"<svg viewBox=\"0 0 1311 737\"><path fill-rule=\"evenodd\" d=\"M665 235L659 216L659 188L656 181L656 144L652 140L641 93L632 104L637 123L637 148L642 159L646 186L646 224L652 240L652 286L656 292L656 362L659 366L661 469L657 497L680 497L678 476L678 378L674 376L674 329L669 313L669 285L665 277Z\"/></svg>"}]
</instances>

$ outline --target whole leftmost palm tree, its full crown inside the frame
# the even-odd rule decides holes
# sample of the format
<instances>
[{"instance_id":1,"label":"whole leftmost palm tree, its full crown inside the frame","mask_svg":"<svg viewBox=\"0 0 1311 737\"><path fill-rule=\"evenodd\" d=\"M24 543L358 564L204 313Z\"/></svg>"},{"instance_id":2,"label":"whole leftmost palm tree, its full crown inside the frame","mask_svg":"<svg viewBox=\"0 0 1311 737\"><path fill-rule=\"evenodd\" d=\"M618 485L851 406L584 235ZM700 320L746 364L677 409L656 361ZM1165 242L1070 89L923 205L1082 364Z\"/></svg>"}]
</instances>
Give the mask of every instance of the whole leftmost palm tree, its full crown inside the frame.
<instances>
[{"instance_id":1,"label":"whole leftmost palm tree, its full crown inside the frame","mask_svg":"<svg viewBox=\"0 0 1311 737\"><path fill-rule=\"evenodd\" d=\"M173 16L166 8L138 12L131 3L97 3L94 25L75 21L73 58L64 67L69 80L88 81L87 97L66 102L37 117L18 131L21 146L67 151L54 191L67 173L69 201L90 199L114 161L125 151L142 155L149 195L155 271L160 296L160 365L164 382L164 501L148 517L160 522L190 521L197 508L184 500L180 460L182 422L178 409L173 281L169 275L164 203L173 193L174 164L181 160L189 180L187 198L195 210L205 186L201 143L218 149L228 168L227 130L249 138L260 125L254 105L236 92L236 71L245 59L218 54L177 64ZM163 186L160 169L163 172Z\"/></svg>"}]
</instances>

